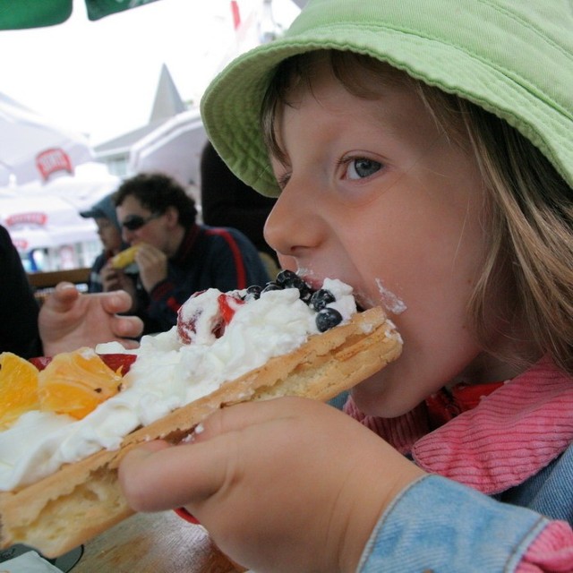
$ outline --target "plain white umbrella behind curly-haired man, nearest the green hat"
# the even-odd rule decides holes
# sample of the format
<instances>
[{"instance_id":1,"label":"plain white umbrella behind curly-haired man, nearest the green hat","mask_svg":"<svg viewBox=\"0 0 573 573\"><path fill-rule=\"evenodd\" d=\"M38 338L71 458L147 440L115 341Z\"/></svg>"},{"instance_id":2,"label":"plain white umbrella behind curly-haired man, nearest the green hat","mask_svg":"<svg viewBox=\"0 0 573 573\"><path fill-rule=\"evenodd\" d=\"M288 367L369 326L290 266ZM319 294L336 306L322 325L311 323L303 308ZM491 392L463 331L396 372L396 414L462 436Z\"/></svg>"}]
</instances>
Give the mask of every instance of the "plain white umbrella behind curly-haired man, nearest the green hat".
<instances>
[{"instance_id":1,"label":"plain white umbrella behind curly-haired man, nearest the green hat","mask_svg":"<svg viewBox=\"0 0 573 573\"><path fill-rule=\"evenodd\" d=\"M201 150L206 142L199 111L184 111L133 144L129 169L133 173L160 171L184 186L199 185Z\"/></svg>"}]
</instances>

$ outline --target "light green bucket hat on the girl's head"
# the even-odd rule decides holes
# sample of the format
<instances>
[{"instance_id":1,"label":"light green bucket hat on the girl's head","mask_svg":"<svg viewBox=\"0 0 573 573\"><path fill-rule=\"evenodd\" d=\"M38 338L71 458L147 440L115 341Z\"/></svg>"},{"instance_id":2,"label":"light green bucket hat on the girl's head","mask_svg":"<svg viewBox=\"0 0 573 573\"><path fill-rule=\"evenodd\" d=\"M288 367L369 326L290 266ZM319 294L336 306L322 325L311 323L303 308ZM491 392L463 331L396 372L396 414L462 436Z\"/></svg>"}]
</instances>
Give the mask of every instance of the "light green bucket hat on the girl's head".
<instances>
[{"instance_id":1,"label":"light green bucket hat on the girl's head","mask_svg":"<svg viewBox=\"0 0 573 573\"><path fill-rule=\"evenodd\" d=\"M573 187L570 0L311 0L283 38L236 58L201 100L218 153L262 194L278 195L260 128L273 70L328 48L388 62L498 115Z\"/></svg>"}]
</instances>

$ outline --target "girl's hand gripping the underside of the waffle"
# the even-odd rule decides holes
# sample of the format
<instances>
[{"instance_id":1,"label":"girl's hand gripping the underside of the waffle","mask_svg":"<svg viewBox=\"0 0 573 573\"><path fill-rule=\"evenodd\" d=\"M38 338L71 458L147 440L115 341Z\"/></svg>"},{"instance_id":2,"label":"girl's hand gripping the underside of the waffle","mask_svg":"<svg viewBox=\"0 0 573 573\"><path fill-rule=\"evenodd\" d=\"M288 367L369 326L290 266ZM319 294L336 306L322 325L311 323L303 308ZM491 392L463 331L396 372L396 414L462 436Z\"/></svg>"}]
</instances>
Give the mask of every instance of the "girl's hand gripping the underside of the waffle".
<instances>
[{"instance_id":1,"label":"girl's hand gripping the underside of the waffle","mask_svg":"<svg viewBox=\"0 0 573 573\"><path fill-rule=\"evenodd\" d=\"M192 444L130 452L124 494L141 511L185 506L223 552L257 571L354 571L381 512L423 475L313 400L227 407L203 428Z\"/></svg>"}]
</instances>

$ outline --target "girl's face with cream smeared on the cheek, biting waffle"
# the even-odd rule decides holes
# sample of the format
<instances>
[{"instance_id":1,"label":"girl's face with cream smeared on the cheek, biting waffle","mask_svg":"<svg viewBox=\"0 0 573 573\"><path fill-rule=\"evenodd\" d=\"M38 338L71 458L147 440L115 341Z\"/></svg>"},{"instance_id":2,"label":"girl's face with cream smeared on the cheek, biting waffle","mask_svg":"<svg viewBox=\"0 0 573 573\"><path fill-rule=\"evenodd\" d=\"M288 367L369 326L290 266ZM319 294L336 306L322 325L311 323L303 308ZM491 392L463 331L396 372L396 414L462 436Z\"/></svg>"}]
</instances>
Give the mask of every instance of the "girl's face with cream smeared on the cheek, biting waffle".
<instances>
[{"instance_id":1,"label":"girl's face with cream smeared on the cheek, biting waffle","mask_svg":"<svg viewBox=\"0 0 573 573\"><path fill-rule=\"evenodd\" d=\"M449 381L508 372L483 355L467 304L485 249L473 158L436 126L415 92L351 95L326 69L278 117L286 158L265 236L311 284L340 278L363 307L382 305L404 351L353 390L372 415L401 415ZM492 305L501 301L492 300Z\"/></svg>"}]
</instances>

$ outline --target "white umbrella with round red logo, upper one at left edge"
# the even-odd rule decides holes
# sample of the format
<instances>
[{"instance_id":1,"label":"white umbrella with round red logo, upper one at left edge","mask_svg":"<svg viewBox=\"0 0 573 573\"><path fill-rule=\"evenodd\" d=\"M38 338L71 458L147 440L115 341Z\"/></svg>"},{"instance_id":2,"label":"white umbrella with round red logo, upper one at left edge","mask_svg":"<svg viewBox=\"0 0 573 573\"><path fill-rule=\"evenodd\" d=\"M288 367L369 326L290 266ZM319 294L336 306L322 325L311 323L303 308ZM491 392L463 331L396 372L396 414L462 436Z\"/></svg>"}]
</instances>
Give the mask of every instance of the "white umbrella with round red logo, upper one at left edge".
<instances>
[{"instance_id":1,"label":"white umbrella with round red logo, upper one at left edge","mask_svg":"<svg viewBox=\"0 0 573 573\"><path fill-rule=\"evenodd\" d=\"M47 182L93 160L81 133L50 124L0 93L0 185Z\"/></svg>"}]
</instances>

